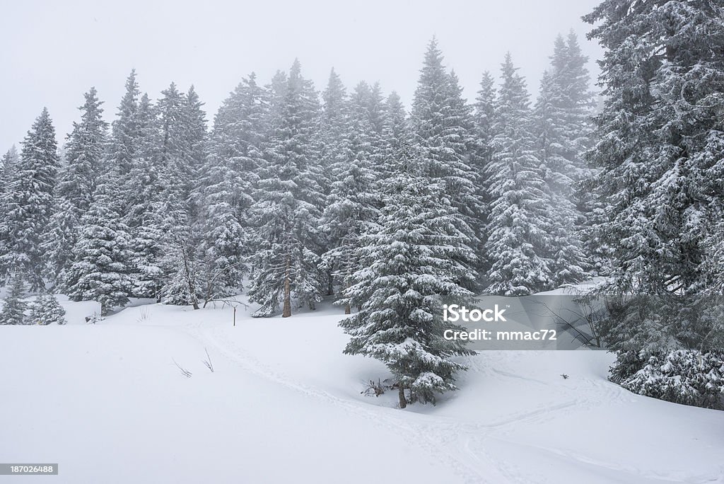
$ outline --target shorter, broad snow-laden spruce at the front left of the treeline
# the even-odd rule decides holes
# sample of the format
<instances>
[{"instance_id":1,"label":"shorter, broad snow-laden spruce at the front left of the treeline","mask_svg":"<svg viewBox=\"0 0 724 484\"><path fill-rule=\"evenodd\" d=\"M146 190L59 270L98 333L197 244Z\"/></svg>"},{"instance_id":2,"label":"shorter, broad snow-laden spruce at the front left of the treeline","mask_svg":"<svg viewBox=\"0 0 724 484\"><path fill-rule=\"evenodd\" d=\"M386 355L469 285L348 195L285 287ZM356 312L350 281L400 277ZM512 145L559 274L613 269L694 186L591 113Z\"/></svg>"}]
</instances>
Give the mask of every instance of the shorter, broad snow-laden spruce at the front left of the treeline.
<instances>
[{"instance_id":1,"label":"shorter, broad snow-laden spruce at the front left of the treeline","mask_svg":"<svg viewBox=\"0 0 724 484\"><path fill-rule=\"evenodd\" d=\"M83 215L67 271L65 291L73 301L98 301L101 316L128 301L131 291L130 235L122 220L123 201L117 191L120 175L98 178L93 202Z\"/></svg>"}]
</instances>

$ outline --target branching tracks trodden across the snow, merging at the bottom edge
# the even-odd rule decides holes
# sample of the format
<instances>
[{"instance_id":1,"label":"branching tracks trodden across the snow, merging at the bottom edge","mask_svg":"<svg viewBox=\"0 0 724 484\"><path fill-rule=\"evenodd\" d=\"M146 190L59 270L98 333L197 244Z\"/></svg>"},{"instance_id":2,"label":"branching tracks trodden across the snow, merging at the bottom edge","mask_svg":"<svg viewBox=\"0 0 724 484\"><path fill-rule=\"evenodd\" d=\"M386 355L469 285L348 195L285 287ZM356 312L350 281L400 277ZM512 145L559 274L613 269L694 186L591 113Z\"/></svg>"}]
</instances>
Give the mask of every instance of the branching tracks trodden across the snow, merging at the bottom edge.
<instances>
[{"instance_id":1,"label":"branching tracks trodden across the snow, merging at the bottom edge","mask_svg":"<svg viewBox=\"0 0 724 484\"><path fill-rule=\"evenodd\" d=\"M531 475L529 472L525 472L522 467L511 465L507 462L500 462L495 459L486 450L490 446L493 446L496 441L504 441L502 437L507 435L511 428L519 428L526 426L534 422L542 422L552 420L560 417L561 412L570 411L571 409L590 409L592 406L601 404L603 399L601 398L589 398L589 399L571 399L564 401L560 404L553 405L540 405L534 409L529 409L524 412L516 412L509 414L499 420L494 420L489 423L475 423L475 422L455 422L452 420L439 420L434 419L425 414L414 414L411 412L405 412L403 414L397 414L398 410L392 410L387 408L381 408L374 406L372 409L368 405L361 402L349 401L340 399L331 393L321 390L319 388L313 388L310 385L301 383L292 377L282 374L271 367L268 364L264 364L259 361L255 356L252 356L241 348L233 341L224 339L219 335L219 327L203 327L201 323L196 325L187 326L186 330L190 335L196 338L200 343L208 343L216 351L219 351L224 358L240 367L242 370L252 372L254 375L263 377L267 380L271 380L274 383L285 386L292 391L302 393L304 396L319 399L327 404L345 409L347 412L351 412L358 416L363 416L369 420L373 425L383 427L394 427L400 430L400 435L405 436L405 440L411 446L417 446L423 448L431 457L450 467L455 475L458 475L466 483L543 483L547 480L540 474ZM221 341L223 339L223 342ZM468 367L473 370L481 371L481 363L478 362L478 358L471 358ZM523 377L512 372L505 370L497 370L491 368L489 364L484 367L484 372L492 372L506 378L513 378L518 380L524 380L526 382L535 383L537 385L550 386L550 383L544 382L543 380L537 380L535 378ZM615 385L607 382L597 382L591 379L584 379L581 381L581 385L592 385L597 388L596 393L600 397L600 393L603 393L605 397L610 400L622 400L623 392L620 391ZM571 388L569 388L570 390ZM576 387L573 387L576 390ZM578 395L586 395L586 392L575 392ZM380 410L382 409L382 412ZM390 412L395 412L391 414ZM407 418L403 418L407 417ZM423 420L423 422L415 422L415 420ZM453 454L450 452L450 443L454 443L452 448L455 448L458 453ZM513 444L513 442L510 442ZM515 443L513 445L526 445ZM633 467L620 467L613 463L598 462L596 459L589 458L583 454L576 454L570 451L562 451L556 448L544 448L536 446L528 446L544 455L547 459L561 460L562 457L568 457L574 461L584 464L595 472L597 467L605 467L607 470L613 470L620 472L625 477L641 476L649 479L660 480L662 482L677 482L677 479L666 478L665 476L658 476L652 473L645 473L637 470ZM474 462L474 465L471 465ZM622 476L624 477L624 476ZM622 482L631 482L630 480L624 480ZM686 481L678 481L686 482ZM704 482L704 481L702 481Z\"/></svg>"}]
</instances>

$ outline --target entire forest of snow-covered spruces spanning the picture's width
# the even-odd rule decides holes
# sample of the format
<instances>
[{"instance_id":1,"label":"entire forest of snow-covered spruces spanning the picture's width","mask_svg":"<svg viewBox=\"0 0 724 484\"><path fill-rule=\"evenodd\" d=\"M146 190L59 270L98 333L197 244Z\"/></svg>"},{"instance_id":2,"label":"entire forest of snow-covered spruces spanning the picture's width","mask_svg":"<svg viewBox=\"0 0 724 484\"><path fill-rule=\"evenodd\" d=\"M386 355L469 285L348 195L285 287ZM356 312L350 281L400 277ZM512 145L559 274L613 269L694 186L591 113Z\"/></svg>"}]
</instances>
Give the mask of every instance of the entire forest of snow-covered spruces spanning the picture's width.
<instances>
[{"instance_id":1,"label":"entire forest of snow-covered spruces spanning the picture's width","mask_svg":"<svg viewBox=\"0 0 724 484\"><path fill-rule=\"evenodd\" d=\"M600 275L602 293L665 297L677 321L605 323L625 385L722 351L722 319L686 302L724 287L722 7L623 4L584 17L606 49L599 111L573 33L552 41L534 99L510 54L466 99L433 38L409 112L334 70L320 92L298 60L241 80L210 129L193 86L152 100L135 71L110 123L83 95L62 157L42 109L1 158L0 322L22 323L27 291L101 315L245 293L255 316L290 317L328 299L350 314L345 351L385 362L404 406L464 368L433 335L440 298ZM43 318L62 320L45 297Z\"/></svg>"}]
</instances>

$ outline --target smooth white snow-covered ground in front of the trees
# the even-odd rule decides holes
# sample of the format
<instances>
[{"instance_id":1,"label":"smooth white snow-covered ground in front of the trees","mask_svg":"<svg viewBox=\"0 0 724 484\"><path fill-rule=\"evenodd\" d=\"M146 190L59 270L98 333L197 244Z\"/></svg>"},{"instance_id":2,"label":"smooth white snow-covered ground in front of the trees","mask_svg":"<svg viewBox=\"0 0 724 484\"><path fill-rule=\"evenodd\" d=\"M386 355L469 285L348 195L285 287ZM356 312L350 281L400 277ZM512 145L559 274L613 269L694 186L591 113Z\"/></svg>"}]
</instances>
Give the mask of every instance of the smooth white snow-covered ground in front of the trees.
<instances>
[{"instance_id":1,"label":"smooth white snow-covered ground in front of the trees","mask_svg":"<svg viewBox=\"0 0 724 484\"><path fill-rule=\"evenodd\" d=\"M724 413L624 391L604 351L482 352L460 391L400 410L361 394L389 375L342 354L338 308L87 325L92 303L63 304L66 326L0 327L0 462L59 475L0 483L724 483Z\"/></svg>"}]
</instances>

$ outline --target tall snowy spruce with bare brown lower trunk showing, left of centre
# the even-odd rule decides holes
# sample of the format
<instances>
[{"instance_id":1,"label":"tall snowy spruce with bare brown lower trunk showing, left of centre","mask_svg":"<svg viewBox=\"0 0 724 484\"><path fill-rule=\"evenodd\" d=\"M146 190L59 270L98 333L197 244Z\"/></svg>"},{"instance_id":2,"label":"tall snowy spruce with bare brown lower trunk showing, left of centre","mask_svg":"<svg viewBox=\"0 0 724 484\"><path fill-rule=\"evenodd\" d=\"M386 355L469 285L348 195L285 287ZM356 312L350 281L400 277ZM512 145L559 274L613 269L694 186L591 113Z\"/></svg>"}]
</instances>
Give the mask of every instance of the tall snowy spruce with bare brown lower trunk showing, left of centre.
<instances>
[{"instance_id":1,"label":"tall snowy spruce with bare brown lower trunk showing, left of centre","mask_svg":"<svg viewBox=\"0 0 724 484\"><path fill-rule=\"evenodd\" d=\"M319 101L297 60L288 77L274 77L271 90L266 174L251 209L254 254L248 293L261 304L256 316L270 316L282 304L282 316L289 317L292 297L314 309L324 291L318 267L324 196L314 143Z\"/></svg>"}]
</instances>

